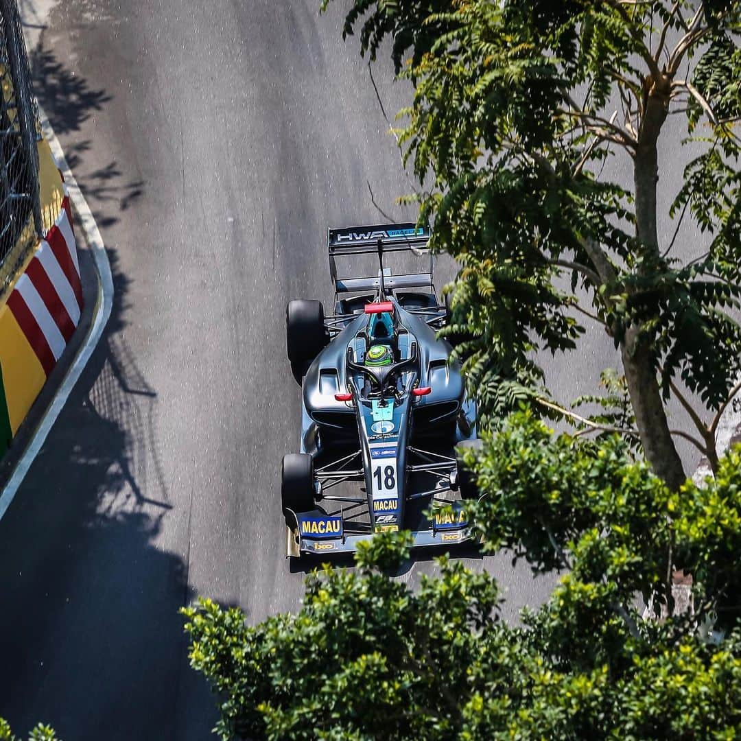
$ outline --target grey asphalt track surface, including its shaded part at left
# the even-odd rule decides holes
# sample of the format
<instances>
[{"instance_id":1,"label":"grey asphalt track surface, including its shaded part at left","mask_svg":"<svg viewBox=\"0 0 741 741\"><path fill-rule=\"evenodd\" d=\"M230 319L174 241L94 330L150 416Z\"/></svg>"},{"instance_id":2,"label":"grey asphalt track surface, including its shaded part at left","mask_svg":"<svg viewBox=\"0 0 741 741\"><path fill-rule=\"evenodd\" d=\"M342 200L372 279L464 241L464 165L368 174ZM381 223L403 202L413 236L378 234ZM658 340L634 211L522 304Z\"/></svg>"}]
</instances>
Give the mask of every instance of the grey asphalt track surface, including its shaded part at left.
<instances>
[{"instance_id":1,"label":"grey asphalt track surface, including its shaded part at left","mask_svg":"<svg viewBox=\"0 0 741 741\"><path fill-rule=\"evenodd\" d=\"M411 185L334 5L62 0L41 30L36 93L116 297L0 521L0 716L18 734L44 720L66 741L207 739L178 609L199 594L251 621L299 606L279 507L299 429L285 303L330 301L325 230L383 220L369 185L414 216L394 205ZM386 110L408 102L375 75ZM565 399L618 362L599 330L544 359ZM484 563L508 619L553 584L505 554Z\"/></svg>"}]
</instances>

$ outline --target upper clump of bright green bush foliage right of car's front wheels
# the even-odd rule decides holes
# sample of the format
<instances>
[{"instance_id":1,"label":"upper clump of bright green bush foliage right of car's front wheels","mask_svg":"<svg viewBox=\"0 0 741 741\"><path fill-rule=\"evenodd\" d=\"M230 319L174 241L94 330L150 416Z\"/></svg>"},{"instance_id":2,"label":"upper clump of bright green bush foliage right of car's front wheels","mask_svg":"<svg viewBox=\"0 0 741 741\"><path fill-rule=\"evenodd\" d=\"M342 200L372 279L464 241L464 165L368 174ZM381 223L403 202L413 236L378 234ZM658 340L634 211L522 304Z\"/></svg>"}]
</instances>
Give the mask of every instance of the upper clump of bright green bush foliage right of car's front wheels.
<instances>
[{"instance_id":1,"label":"upper clump of bright green bush foliage right of car's front wheels","mask_svg":"<svg viewBox=\"0 0 741 741\"><path fill-rule=\"evenodd\" d=\"M637 592L645 602L671 599L678 563L694 576L697 619L720 611L730 628L741 617L741 448L702 487L688 481L679 491L619 436L554 439L530 412L466 455L487 493L469 511L488 551L508 548L535 571L602 582L623 606Z\"/></svg>"}]
</instances>

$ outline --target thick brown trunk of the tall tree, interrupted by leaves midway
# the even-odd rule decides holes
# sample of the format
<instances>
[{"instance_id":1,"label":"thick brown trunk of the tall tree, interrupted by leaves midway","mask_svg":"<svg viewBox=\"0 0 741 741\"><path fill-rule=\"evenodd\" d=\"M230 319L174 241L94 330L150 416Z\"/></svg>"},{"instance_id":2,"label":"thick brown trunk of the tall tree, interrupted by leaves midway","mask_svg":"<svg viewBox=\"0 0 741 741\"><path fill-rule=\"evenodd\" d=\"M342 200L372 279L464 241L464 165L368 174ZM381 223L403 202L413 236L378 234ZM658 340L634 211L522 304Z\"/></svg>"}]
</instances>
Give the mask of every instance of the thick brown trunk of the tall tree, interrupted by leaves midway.
<instances>
[{"instance_id":1,"label":"thick brown trunk of the tall tree, interrupted by leaves midway","mask_svg":"<svg viewBox=\"0 0 741 741\"><path fill-rule=\"evenodd\" d=\"M659 179L657 140L668 113L671 81L662 79L647 82L649 93L634 159L636 236L637 249L653 258L648 262L653 263L652 269L655 269L659 262L656 224L656 188ZM640 327L631 325L621 344L625 380L628 382L646 459L657 476L676 490L685 482L685 471L669 432L654 359L651 356L652 349L645 342L639 341L639 333Z\"/></svg>"}]
</instances>

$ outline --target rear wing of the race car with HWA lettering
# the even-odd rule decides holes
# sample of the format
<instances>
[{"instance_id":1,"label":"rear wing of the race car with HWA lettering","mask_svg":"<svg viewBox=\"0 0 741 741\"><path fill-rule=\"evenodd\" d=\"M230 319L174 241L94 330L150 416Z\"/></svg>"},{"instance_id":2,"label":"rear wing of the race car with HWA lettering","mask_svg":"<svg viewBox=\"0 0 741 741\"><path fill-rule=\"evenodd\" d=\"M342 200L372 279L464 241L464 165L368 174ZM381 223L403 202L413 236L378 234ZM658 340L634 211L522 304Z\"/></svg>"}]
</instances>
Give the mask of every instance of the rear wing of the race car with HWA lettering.
<instances>
[{"instance_id":1,"label":"rear wing of the race car with HWA lettering","mask_svg":"<svg viewBox=\"0 0 741 741\"><path fill-rule=\"evenodd\" d=\"M329 253L329 272L337 293L356 293L364 290L377 290L380 274L365 278L338 277L336 258L353 255L378 254L382 259L385 253L413 252L430 256L429 270L423 273L392 275L384 270L384 287L391 290L400 288L433 288L433 258L428 248L430 227L418 227L413 222L405 224L377 224L371 226L330 229L327 236ZM388 277L387 277L388 276Z\"/></svg>"}]
</instances>

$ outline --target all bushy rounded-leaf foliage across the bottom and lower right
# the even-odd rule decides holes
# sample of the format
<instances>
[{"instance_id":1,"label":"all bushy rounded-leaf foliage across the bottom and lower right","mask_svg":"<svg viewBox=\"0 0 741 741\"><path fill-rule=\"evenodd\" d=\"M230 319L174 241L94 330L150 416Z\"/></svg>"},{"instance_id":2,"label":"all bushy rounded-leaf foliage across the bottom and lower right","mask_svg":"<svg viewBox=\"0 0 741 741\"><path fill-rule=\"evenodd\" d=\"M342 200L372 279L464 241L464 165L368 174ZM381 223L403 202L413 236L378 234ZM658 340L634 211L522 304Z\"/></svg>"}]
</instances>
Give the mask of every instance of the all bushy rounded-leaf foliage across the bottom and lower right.
<instances>
[{"instance_id":1,"label":"all bushy rounded-leaf foliage across the bottom and lower right","mask_svg":"<svg viewBox=\"0 0 741 741\"><path fill-rule=\"evenodd\" d=\"M529 412L468 454L485 548L568 568L551 599L506 625L494 579L447 556L413 590L376 566L408 556L402 532L374 537L355 571L309 576L297 614L250 626L204 600L184 611L190 660L219 695L222 738L733 737L741 449L677 492L617 436L554 439ZM634 595L669 597L673 553L694 574L694 615L642 619ZM714 611L717 644L695 629Z\"/></svg>"}]
</instances>

